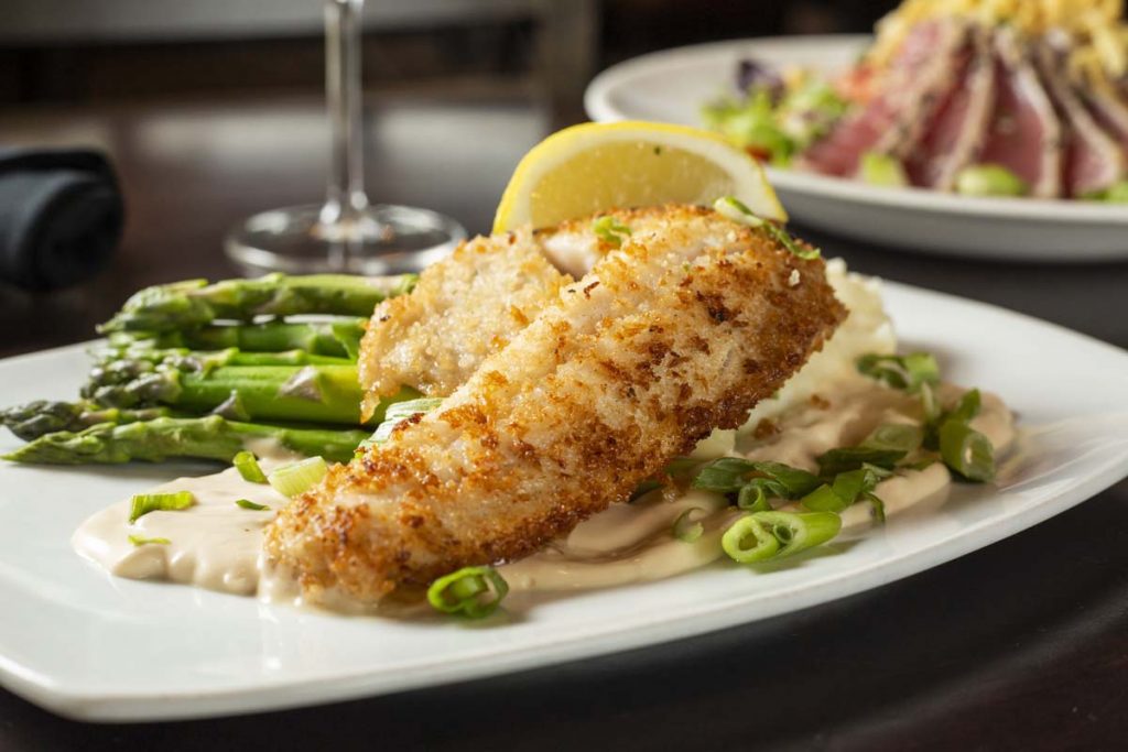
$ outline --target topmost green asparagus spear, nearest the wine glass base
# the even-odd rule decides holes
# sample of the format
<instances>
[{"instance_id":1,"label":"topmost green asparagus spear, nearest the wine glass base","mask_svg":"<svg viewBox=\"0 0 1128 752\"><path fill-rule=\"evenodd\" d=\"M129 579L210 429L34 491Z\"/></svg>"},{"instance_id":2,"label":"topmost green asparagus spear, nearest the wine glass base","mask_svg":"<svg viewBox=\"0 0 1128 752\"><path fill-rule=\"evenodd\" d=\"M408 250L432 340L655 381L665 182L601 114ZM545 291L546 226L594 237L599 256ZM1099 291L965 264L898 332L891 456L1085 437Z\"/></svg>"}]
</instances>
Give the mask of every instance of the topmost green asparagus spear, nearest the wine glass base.
<instances>
[{"instance_id":1,"label":"topmost green asparagus spear, nearest the wine glass base","mask_svg":"<svg viewBox=\"0 0 1128 752\"><path fill-rule=\"evenodd\" d=\"M147 287L133 294L122 310L98 330L173 331L212 324L217 319L250 321L256 316L332 313L371 316L385 298L408 292L415 275L359 277L346 274L257 280L187 280Z\"/></svg>"}]
</instances>

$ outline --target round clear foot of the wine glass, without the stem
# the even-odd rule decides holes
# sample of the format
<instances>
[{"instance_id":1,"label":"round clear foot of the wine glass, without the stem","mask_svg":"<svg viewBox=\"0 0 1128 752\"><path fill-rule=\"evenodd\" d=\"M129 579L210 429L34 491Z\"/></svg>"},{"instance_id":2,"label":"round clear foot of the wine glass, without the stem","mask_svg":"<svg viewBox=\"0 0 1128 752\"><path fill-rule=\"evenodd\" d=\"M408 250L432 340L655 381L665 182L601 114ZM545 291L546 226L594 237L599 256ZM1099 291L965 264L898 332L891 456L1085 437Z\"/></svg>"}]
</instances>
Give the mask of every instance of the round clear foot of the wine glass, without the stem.
<instances>
[{"instance_id":1,"label":"round clear foot of the wine glass, without the stem","mask_svg":"<svg viewBox=\"0 0 1128 752\"><path fill-rule=\"evenodd\" d=\"M323 224L320 213L309 204L255 214L228 233L223 247L249 274L377 276L418 272L466 238L461 224L426 209L379 204L333 225Z\"/></svg>"}]
</instances>

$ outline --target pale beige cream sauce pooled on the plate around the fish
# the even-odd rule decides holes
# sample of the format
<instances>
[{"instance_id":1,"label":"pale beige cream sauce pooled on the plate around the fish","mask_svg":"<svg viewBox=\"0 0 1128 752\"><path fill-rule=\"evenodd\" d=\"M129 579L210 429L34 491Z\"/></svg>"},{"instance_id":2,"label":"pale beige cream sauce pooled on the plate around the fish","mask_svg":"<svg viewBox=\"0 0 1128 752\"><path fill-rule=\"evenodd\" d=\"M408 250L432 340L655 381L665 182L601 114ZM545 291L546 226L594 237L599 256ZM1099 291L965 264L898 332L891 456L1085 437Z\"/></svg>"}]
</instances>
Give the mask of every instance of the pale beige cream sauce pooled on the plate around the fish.
<instances>
[{"instance_id":1,"label":"pale beige cream sauce pooled on the plate around the fish","mask_svg":"<svg viewBox=\"0 0 1128 752\"><path fill-rule=\"evenodd\" d=\"M944 386L940 396L951 404L961 391ZM986 392L982 397L982 410L973 426L992 440L1001 455L1014 441L1013 416L998 397ZM774 432L758 439L755 434L741 436L740 449L755 460L813 470L819 454L857 443L879 424L919 419L916 398L869 379L848 377L778 414ZM277 463L263 461L264 469ZM887 515L892 515L937 498L946 493L950 483L948 469L937 462L922 471L889 478L875 492L885 504ZM228 593L258 593L261 599L274 602L301 603L293 577L262 572L263 530L287 502L277 492L244 480L233 468L201 478L179 478L155 490L190 490L196 504L182 512L151 512L131 525L130 502L121 502L79 528L73 537L76 550L122 577L168 580ZM244 510L235 504L239 498L271 508ZM688 510L697 510L694 519L704 528L693 542L672 534L675 521ZM567 538L500 570L513 590L539 591L608 587L670 577L720 558L720 538L739 514L716 494L660 489L633 504L606 510L579 524ZM843 514L844 528L870 522L867 504L856 504ZM170 542L134 546L130 534L167 538ZM344 601L323 605L355 610Z\"/></svg>"}]
</instances>

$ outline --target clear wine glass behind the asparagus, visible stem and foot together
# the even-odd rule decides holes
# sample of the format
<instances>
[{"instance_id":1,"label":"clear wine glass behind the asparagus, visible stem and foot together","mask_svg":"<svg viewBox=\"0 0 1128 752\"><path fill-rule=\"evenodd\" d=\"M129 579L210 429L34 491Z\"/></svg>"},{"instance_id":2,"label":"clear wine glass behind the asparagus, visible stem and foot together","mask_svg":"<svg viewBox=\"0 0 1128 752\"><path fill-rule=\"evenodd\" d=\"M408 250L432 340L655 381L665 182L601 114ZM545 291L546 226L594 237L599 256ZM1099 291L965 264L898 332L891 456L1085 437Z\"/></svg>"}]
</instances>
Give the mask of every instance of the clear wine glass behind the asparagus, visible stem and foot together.
<instances>
[{"instance_id":1,"label":"clear wine glass behind the asparagus, visible stem and foot together","mask_svg":"<svg viewBox=\"0 0 1128 752\"><path fill-rule=\"evenodd\" d=\"M333 131L324 204L274 209L235 227L227 255L248 272L416 272L466 238L426 209L370 204L364 193L360 27L364 0L325 2L325 82Z\"/></svg>"}]
</instances>

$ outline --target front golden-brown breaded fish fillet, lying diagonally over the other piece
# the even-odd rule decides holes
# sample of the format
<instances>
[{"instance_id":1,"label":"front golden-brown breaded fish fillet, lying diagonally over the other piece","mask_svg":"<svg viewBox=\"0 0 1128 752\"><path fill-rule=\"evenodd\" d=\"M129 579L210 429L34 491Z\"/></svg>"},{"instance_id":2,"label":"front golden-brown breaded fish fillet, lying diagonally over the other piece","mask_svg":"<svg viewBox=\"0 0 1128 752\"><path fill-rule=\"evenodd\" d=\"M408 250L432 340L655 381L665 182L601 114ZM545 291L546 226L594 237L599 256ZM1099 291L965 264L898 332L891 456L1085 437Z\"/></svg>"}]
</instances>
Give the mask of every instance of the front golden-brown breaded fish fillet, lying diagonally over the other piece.
<instances>
[{"instance_id":1,"label":"front golden-brown breaded fish fillet, lying diagonally over the other piece","mask_svg":"<svg viewBox=\"0 0 1128 752\"><path fill-rule=\"evenodd\" d=\"M331 468L266 534L307 599L374 602L526 556L737 427L845 316L820 259L687 206L632 235L443 405Z\"/></svg>"}]
</instances>

